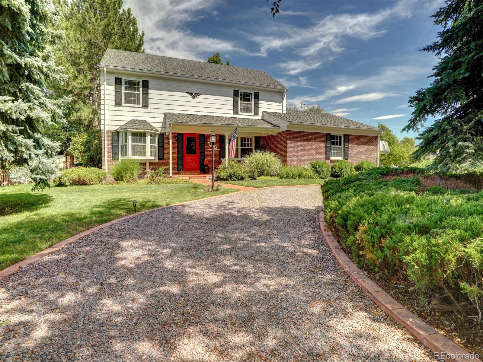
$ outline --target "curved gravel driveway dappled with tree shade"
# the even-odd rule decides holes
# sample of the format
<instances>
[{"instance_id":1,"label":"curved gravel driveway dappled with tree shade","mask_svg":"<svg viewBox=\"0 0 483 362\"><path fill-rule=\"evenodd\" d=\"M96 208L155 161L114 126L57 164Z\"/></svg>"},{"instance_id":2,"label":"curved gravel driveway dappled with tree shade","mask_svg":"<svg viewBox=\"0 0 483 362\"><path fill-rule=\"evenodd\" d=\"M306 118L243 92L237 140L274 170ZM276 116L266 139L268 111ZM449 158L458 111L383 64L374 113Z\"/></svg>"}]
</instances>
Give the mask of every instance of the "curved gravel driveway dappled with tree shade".
<instances>
[{"instance_id":1,"label":"curved gravel driveway dappled with tree shade","mask_svg":"<svg viewBox=\"0 0 483 362\"><path fill-rule=\"evenodd\" d=\"M319 187L160 209L0 282L0 360L430 361L343 272Z\"/></svg>"}]
</instances>

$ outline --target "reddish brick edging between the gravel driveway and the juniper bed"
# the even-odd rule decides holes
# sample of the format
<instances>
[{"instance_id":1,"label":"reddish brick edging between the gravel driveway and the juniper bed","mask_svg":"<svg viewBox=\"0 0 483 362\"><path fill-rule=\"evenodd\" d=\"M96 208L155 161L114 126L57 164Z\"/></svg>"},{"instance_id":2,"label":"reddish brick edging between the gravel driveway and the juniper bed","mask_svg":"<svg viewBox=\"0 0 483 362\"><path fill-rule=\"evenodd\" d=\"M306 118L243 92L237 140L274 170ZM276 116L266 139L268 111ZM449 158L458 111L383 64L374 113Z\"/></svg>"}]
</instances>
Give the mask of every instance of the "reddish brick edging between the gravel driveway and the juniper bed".
<instances>
[{"instance_id":1,"label":"reddish brick edging between the gravel driveway and the juniper bed","mask_svg":"<svg viewBox=\"0 0 483 362\"><path fill-rule=\"evenodd\" d=\"M481 362L481 360L477 358L471 358L471 353L466 349L459 347L451 339L440 334L426 322L412 314L410 310L399 304L388 293L384 292L384 290L374 283L366 273L359 269L341 249L336 238L327 227L326 222L324 221L323 210L321 210L319 214L319 226L325 241L345 272L382 310L384 310L384 312L406 328L412 335L419 339L423 345L434 353L440 353L440 356L443 353L446 354L446 356L455 356L455 358L444 358L444 361L446 362ZM457 358L456 356L461 356L463 358ZM466 356L468 356L468 358L465 358Z\"/></svg>"}]
</instances>

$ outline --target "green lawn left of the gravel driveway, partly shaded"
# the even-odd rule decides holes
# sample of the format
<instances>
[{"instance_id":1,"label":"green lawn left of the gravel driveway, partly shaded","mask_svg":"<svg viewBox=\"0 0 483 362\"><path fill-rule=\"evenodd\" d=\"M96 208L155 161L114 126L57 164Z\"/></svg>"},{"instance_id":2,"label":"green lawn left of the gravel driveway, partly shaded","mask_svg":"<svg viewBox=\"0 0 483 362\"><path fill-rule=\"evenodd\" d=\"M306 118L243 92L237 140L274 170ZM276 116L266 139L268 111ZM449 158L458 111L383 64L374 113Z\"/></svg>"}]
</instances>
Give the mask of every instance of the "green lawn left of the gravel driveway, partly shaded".
<instances>
[{"instance_id":1,"label":"green lawn left of the gravel driveway, partly shaded","mask_svg":"<svg viewBox=\"0 0 483 362\"><path fill-rule=\"evenodd\" d=\"M204 185L147 183L52 187L31 192L32 185L0 187L0 269L96 225L137 211L237 190L203 191Z\"/></svg>"}]
</instances>

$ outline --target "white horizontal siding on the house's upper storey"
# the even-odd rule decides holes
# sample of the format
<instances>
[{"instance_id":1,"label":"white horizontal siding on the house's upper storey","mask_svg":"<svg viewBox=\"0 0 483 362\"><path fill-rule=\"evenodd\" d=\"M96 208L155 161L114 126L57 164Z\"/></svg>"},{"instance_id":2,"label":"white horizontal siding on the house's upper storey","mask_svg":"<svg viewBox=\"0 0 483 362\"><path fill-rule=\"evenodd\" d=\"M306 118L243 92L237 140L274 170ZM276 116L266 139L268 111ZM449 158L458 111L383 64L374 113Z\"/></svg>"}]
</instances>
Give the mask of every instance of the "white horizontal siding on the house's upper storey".
<instances>
[{"instance_id":1,"label":"white horizontal siding on the house's upper storey","mask_svg":"<svg viewBox=\"0 0 483 362\"><path fill-rule=\"evenodd\" d=\"M114 105L114 78L136 78L149 81L149 107ZM104 79L101 71L101 121L104 120ZM107 129L114 130L132 118L145 119L161 128L165 112L207 114L226 117L261 118L263 111L280 112L284 106L284 91L262 87L237 86L222 82L186 80L155 74L107 70ZM259 92L258 116L233 114L233 89ZM201 93L192 99L185 92Z\"/></svg>"}]
</instances>

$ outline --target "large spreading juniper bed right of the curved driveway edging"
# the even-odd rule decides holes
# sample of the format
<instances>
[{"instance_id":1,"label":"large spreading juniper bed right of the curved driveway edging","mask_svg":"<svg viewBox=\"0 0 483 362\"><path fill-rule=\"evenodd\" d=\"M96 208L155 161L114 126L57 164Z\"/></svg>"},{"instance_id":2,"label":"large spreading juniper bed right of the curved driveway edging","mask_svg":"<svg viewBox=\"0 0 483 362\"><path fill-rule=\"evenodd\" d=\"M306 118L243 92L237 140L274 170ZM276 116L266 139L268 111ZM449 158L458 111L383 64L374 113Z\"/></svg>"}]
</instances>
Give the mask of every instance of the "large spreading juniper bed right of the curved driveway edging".
<instances>
[{"instance_id":1,"label":"large spreading juniper bed right of the curved driveway edging","mask_svg":"<svg viewBox=\"0 0 483 362\"><path fill-rule=\"evenodd\" d=\"M483 191L452 188L461 184L424 169L372 168L322 186L325 218L357 265L406 273L420 295L452 294L476 308L483 304Z\"/></svg>"}]
</instances>

